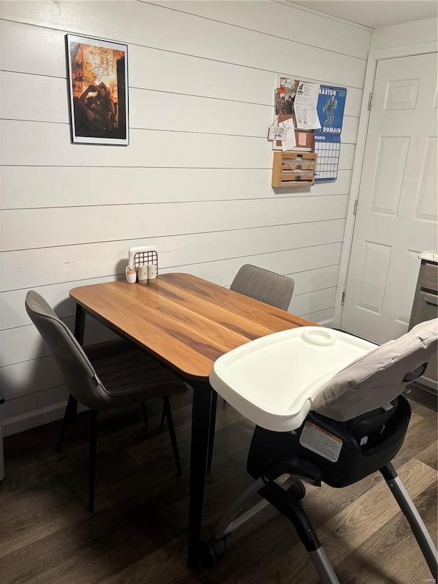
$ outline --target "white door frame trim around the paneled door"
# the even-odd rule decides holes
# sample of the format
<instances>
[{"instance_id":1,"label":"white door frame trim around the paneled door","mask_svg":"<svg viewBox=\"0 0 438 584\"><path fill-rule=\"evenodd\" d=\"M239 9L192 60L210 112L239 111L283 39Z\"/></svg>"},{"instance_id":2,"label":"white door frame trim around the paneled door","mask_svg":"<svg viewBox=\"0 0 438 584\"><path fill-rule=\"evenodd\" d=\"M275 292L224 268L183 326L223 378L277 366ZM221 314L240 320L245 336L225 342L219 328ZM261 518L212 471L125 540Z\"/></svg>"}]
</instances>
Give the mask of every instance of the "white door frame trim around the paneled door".
<instances>
[{"instance_id":1,"label":"white door frame trim around the paneled door","mask_svg":"<svg viewBox=\"0 0 438 584\"><path fill-rule=\"evenodd\" d=\"M357 142L355 158L351 175L350 197L348 199L348 209L346 226L344 233L344 243L342 245L341 262L339 264L339 276L337 279L337 291L335 298L335 312L333 314L333 327L339 328L342 320L342 296L346 290L348 277L348 264L350 263L350 253L352 248L353 235L355 230L355 204L359 199L359 189L361 186L363 158L365 156L365 145L368 134L368 123L370 120L370 110L368 110L368 99L374 88L376 69L378 61L383 59L395 59L398 57L411 57L413 55L425 55L427 53L437 53L438 42L423 42L418 45L404 45L402 47L391 47L388 49L376 49L368 54L368 63L365 73L365 83L363 84L363 97L361 113L359 116L359 129L357 131Z\"/></svg>"}]
</instances>

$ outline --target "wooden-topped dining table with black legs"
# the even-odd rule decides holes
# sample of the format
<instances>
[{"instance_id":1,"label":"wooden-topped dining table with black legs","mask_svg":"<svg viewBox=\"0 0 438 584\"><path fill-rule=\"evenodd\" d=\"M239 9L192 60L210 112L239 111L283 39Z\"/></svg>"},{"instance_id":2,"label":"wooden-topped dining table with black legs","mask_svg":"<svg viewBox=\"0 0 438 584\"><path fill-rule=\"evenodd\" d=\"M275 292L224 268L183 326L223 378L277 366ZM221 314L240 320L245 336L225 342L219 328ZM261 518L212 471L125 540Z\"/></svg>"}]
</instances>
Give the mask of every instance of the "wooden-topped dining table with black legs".
<instances>
[{"instance_id":1,"label":"wooden-topped dining table with black legs","mask_svg":"<svg viewBox=\"0 0 438 584\"><path fill-rule=\"evenodd\" d=\"M214 361L250 340L313 322L184 273L155 283L112 281L70 290L77 303L75 337L83 344L86 314L130 339L193 388L188 568L198 565L211 416ZM291 364L293 366L293 364Z\"/></svg>"}]
</instances>

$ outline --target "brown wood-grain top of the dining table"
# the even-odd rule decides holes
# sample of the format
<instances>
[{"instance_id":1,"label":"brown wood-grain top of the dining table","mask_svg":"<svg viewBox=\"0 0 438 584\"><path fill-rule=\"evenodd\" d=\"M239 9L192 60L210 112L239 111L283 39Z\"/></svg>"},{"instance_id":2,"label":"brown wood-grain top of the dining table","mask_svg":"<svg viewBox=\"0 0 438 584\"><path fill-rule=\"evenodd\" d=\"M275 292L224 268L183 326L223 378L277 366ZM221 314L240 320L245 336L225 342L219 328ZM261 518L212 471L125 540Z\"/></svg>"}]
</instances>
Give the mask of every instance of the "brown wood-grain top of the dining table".
<instances>
[{"instance_id":1,"label":"brown wood-grain top of the dining table","mask_svg":"<svg viewBox=\"0 0 438 584\"><path fill-rule=\"evenodd\" d=\"M70 296L86 312L130 338L182 377L207 381L214 361L250 340L314 325L281 309L189 274L153 284L80 286Z\"/></svg>"}]
</instances>

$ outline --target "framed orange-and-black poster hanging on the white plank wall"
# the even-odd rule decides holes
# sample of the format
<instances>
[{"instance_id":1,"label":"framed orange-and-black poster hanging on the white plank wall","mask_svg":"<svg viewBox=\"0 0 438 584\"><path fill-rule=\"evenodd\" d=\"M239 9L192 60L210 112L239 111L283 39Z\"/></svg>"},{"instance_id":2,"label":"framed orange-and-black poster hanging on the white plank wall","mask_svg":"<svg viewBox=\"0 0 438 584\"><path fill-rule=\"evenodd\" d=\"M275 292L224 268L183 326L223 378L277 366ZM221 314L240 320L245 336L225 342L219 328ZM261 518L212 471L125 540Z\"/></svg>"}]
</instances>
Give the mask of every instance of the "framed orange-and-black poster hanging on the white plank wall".
<instances>
[{"instance_id":1,"label":"framed orange-and-black poster hanging on the white plank wall","mask_svg":"<svg viewBox=\"0 0 438 584\"><path fill-rule=\"evenodd\" d=\"M66 35L73 142L129 144L127 45Z\"/></svg>"}]
</instances>

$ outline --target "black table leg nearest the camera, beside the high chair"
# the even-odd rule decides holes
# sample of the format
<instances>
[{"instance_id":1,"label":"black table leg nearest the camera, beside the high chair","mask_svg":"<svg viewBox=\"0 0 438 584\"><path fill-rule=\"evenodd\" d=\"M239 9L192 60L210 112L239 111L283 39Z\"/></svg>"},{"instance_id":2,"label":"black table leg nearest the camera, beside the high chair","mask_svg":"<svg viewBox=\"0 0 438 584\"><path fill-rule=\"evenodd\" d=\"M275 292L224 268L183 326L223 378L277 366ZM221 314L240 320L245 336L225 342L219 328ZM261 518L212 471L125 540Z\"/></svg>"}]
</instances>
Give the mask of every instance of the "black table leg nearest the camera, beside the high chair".
<instances>
[{"instance_id":1,"label":"black table leg nearest the camera, beside the high chair","mask_svg":"<svg viewBox=\"0 0 438 584\"><path fill-rule=\"evenodd\" d=\"M201 537L207 448L209 439L211 388L209 383L190 381L193 388L192 439L190 446L190 494L188 568L198 566L198 542Z\"/></svg>"}]
</instances>

